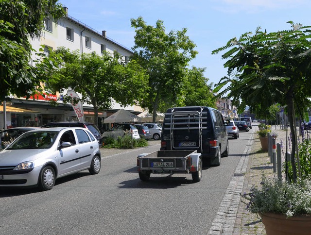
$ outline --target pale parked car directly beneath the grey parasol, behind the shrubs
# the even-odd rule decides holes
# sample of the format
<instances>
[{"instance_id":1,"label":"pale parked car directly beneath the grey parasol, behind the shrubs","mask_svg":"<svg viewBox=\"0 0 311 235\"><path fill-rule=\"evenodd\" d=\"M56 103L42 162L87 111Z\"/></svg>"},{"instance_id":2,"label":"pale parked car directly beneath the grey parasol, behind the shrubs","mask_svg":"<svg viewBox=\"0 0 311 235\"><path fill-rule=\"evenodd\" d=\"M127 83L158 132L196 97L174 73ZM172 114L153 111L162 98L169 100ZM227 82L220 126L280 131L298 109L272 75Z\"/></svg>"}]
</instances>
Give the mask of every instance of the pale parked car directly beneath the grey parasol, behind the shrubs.
<instances>
[{"instance_id":1,"label":"pale parked car directly beneath the grey parasol, behind the shrubs","mask_svg":"<svg viewBox=\"0 0 311 235\"><path fill-rule=\"evenodd\" d=\"M102 138L112 137L117 139L118 136L123 137L126 134L130 134L134 139L139 139L138 129L134 124L121 123L116 124L108 131L102 134Z\"/></svg>"}]
</instances>

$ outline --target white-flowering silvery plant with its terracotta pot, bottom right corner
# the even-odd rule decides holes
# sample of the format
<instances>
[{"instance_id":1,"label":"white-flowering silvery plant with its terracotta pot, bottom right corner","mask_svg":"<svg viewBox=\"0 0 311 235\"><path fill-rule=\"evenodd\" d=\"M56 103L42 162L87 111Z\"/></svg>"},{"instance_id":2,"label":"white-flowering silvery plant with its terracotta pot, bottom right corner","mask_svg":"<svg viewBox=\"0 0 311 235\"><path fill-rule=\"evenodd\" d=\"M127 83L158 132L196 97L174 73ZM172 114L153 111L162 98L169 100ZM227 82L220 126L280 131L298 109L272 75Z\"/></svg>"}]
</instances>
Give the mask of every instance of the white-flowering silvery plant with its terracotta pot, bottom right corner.
<instances>
[{"instance_id":1,"label":"white-flowering silvery plant with its terracotta pot, bottom right corner","mask_svg":"<svg viewBox=\"0 0 311 235\"><path fill-rule=\"evenodd\" d=\"M310 233L310 180L288 183L263 175L260 186L253 185L249 193L242 194L242 198L246 200L243 202L247 204L247 210L262 218L267 235Z\"/></svg>"}]
</instances>

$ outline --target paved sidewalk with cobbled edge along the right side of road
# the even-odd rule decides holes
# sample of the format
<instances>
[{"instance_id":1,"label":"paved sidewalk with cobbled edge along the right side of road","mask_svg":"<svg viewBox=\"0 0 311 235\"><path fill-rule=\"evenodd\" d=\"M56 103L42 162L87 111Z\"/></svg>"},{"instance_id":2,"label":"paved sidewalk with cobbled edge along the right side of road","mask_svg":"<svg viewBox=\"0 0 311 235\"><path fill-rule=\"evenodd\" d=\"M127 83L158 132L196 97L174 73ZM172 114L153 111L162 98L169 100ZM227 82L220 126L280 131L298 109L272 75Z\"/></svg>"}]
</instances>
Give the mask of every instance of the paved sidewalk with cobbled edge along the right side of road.
<instances>
[{"instance_id":1,"label":"paved sidewalk with cobbled edge along the right side of road","mask_svg":"<svg viewBox=\"0 0 311 235\"><path fill-rule=\"evenodd\" d=\"M241 194L249 192L252 185L260 185L262 174L273 176L273 164L268 152L261 150L257 134L258 126L253 126L250 136L234 176L227 188L217 216L212 222L208 235L265 235L260 217L246 210ZM286 131L272 126L278 134L276 143L286 143ZM284 150L285 151L285 150ZM282 156L284 160L284 156ZM246 201L245 201L246 202Z\"/></svg>"}]
</instances>

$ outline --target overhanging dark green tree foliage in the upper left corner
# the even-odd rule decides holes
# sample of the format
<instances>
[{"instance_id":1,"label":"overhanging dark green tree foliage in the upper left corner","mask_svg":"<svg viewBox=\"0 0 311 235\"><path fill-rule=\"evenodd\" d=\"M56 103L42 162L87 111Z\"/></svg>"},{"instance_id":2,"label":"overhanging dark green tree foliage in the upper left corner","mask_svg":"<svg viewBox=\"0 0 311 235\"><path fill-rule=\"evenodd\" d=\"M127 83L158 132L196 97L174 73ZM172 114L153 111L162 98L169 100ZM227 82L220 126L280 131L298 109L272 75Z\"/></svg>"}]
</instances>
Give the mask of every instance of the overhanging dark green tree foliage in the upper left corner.
<instances>
[{"instance_id":1,"label":"overhanging dark green tree foliage in the upper left corner","mask_svg":"<svg viewBox=\"0 0 311 235\"><path fill-rule=\"evenodd\" d=\"M40 37L44 18L54 20L64 16L57 0L0 0L0 101L10 94L30 96L40 82L48 79L42 69L50 65L32 67L30 39ZM47 61L45 61L47 62Z\"/></svg>"}]
</instances>

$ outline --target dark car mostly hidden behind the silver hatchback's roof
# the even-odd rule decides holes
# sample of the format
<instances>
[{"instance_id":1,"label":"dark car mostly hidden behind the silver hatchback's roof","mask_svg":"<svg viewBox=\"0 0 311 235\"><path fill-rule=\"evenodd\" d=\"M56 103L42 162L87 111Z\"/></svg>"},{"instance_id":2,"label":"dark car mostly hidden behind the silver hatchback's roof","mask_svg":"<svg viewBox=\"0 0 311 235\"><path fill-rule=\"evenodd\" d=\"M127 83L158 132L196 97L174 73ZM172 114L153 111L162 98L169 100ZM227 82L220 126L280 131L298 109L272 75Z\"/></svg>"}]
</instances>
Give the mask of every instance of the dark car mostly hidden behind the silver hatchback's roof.
<instances>
[{"instance_id":1,"label":"dark car mostly hidden behind the silver hatchback's roof","mask_svg":"<svg viewBox=\"0 0 311 235\"><path fill-rule=\"evenodd\" d=\"M88 129L97 139L98 144L101 146L103 143L101 132L92 122L86 121L54 121L48 124L42 125L41 127L83 127Z\"/></svg>"}]
</instances>

